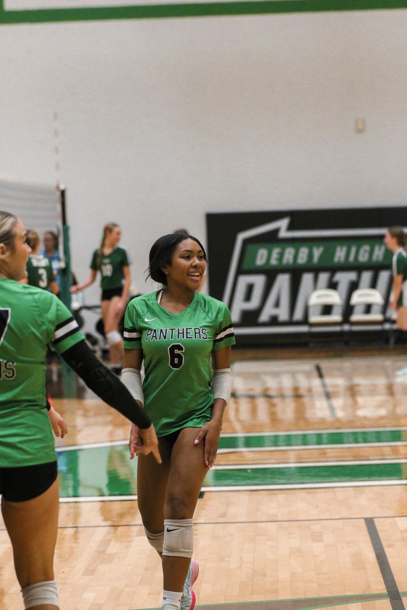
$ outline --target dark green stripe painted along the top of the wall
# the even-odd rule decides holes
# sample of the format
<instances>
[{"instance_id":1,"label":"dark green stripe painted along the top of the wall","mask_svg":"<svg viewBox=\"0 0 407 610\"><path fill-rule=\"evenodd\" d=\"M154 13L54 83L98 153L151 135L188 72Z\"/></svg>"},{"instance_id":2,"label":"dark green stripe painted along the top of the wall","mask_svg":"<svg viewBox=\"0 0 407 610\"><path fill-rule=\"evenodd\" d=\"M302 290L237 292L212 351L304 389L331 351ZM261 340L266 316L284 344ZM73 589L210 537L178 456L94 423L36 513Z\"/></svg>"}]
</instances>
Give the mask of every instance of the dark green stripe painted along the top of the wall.
<instances>
[{"instance_id":1,"label":"dark green stripe painted along the top of the wall","mask_svg":"<svg viewBox=\"0 0 407 610\"><path fill-rule=\"evenodd\" d=\"M1 0L0 0L1 2ZM0 5L2 7L2 4ZM13 10L0 8L0 23L46 23L118 19L159 19L221 15L261 15L346 10L406 9L407 0L269 0L268 2L210 2L84 9Z\"/></svg>"}]
</instances>

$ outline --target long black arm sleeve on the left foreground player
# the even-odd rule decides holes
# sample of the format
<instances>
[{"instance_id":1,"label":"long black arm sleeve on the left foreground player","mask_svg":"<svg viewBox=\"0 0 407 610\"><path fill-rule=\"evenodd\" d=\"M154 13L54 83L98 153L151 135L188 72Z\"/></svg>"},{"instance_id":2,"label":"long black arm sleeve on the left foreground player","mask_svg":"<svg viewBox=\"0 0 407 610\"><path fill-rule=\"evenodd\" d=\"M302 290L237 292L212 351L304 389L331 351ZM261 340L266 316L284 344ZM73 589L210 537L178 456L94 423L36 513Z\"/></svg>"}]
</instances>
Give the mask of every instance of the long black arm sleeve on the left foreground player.
<instances>
[{"instance_id":1,"label":"long black arm sleeve on the left foreground player","mask_svg":"<svg viewBox=\"0 0 407 610\"><path fill-rule=\"evenodd\" d=\"M82 339L64 351L61 356L70 365L85 384L98 395L99 398L110 404L113 409L127 417L139 428L149 428L151 419L144 409L136 403L129 390L109 368L105 367L96 358L92 350Z\"/></svg>"}]
</instances>

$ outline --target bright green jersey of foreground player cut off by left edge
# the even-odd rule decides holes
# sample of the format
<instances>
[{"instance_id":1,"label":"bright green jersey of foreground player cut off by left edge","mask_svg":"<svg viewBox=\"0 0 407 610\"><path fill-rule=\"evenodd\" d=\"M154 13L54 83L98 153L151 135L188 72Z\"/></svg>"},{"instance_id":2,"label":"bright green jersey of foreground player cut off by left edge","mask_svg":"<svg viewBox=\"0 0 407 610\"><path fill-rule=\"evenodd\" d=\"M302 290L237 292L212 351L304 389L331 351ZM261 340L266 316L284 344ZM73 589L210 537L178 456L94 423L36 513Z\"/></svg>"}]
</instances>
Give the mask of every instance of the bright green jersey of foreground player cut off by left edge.
<instances>
[{"instance_id":1,"label":"bright green jersey of foreground player cut off by left edge","mask_svg":"<svg viewBox=\"0 0 407 610\"><path fill-rule=\"evenodd\" d=\"M0 278L0 468L57 459L45 408L45 357L83 339L48 290Z\"/></svg>"}]
</instances>

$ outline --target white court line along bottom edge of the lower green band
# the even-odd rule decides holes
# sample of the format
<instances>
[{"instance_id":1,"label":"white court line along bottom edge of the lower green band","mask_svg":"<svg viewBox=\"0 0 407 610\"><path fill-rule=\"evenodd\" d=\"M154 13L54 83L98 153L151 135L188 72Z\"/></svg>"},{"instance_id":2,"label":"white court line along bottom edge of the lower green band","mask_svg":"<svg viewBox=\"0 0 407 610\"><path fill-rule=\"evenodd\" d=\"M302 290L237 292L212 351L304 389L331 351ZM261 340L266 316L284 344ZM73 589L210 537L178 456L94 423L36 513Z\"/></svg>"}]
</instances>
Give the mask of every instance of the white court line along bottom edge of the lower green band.
<instances>
[{"instance_id":1,"label":"white court line along bottom edge of the lower green band","mask_svg":"<svg viewBox=\"0 0 407 610\"><path fill-rule=\"evenodd\" d=\"M327 489L329 487L380 487L388 485L403 485L407 479L397 479L390 481L348 481L344 483L298 483L287 485L231 485L225 487L202 487L202 492L251 492L268 491L282 489ZM128 496L84 496L82 498L60 498L62 504L70 502L115 502L115 501L137 500L137 495Z\"/></svg>"}]
</instances>

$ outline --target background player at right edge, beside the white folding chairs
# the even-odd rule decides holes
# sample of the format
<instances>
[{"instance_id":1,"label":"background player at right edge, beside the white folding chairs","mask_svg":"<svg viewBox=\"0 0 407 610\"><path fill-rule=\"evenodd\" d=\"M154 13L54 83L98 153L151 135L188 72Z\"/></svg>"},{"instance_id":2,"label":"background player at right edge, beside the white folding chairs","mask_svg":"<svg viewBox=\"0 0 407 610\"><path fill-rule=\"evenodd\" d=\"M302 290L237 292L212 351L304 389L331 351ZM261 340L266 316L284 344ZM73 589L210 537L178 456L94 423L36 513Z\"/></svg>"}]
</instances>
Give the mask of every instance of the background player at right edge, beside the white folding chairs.
<instances>
[{"instance_id":1,"label":"background player at right edge, beside the white folding chairs","mask_svg":"<svg viewBox=\"0 0 407 610\"><path fill-rule=\"evenodd\" d=\"M384 243L393 253L393 296L390 309L397 311L397 328L407 331L407 252L406 234L403 227L390 227L384 235ZM407 375L407 367L396 372L396 375Z\"/></svg>"}]
</instances>

